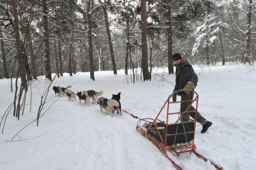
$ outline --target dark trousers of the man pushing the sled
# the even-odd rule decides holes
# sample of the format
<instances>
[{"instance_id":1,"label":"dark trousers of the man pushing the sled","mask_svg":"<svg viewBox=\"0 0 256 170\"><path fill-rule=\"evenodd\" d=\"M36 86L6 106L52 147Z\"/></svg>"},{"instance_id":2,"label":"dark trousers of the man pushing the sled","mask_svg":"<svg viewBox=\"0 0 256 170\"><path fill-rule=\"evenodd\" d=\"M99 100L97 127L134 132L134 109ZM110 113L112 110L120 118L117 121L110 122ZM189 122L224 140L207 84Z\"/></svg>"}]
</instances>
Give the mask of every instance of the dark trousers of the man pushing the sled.
<instances>
[{"instance_id":1,"label":"dark trousers of the man pushing the sled","mask_svg":"<svg viewBox=\"0 0 256 170\"><path fill-rule=\"evenodd\" d=\"M189 94L181 94L181 101L185 100L193 100L194 98L194 91L191 91ZM180 104L180 112L184 112L187 108L187 106L190 105L191 102L182 102ZM187 111L195 111L195 108L193 106L190 106L190 108ZM186 114L183 114L183 121L189 121L189 116L195 119L195 112L189 112ZM197 122L200 123L202 126L207 123L206 118L204 118L199 112L197 112Z\"/></svg>"}]
</instances>

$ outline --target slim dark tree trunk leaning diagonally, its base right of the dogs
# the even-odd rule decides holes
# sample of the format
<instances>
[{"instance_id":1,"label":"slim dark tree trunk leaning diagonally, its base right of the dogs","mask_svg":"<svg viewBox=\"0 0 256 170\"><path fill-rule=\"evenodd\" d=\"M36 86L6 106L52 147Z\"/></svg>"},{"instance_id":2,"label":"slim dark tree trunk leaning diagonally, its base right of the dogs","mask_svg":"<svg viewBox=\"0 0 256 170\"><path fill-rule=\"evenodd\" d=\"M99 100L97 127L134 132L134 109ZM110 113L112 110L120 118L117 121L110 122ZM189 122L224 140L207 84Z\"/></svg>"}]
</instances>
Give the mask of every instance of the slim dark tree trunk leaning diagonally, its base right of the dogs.
<instances>
[{"instance_id":1,"label":"slim dark tree trunk leaning diagonally, its base right of the dogs","mask_svg":"<svg viewBox=\"0 0 256 170\"><path fill-rule=\"evenodd\" d=\"M100 4L102 4L102 1L100 1ZM108 36L109 52L111 55L112 67L113 67L114 74L117 74L117 66L115 65L115 56L114 56L114 50L112 46L111 32L110 32L109 23L108 23L108 11L106 6L103 7L103 12L105 17L106 34Z\"/></svg>"}]
</instances>

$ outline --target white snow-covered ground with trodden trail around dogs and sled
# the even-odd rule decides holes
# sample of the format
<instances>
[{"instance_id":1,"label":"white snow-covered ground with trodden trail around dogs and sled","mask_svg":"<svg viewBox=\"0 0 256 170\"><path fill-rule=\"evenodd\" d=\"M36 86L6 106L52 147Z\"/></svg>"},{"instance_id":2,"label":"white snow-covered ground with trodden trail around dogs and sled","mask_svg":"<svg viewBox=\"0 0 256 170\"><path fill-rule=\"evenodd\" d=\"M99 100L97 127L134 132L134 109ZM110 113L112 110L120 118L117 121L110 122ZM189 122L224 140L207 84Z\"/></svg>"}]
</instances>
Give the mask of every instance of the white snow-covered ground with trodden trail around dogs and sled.
<instances>
[{"instance_id":1,"label":"white snow-covered ground with trodden trail around dogs and sled","mask_svg":"<svg viewBox=\"0 0 256 170\"><path fill-rule=\"evenodd\" d=\"M197 124L195 144L198 151L219 163L224 169L255 169L256 160L256 71L255 66L194 65L199 82L198 110L213 126L202 134ZM161 73L159 69L159 73ZM96 72L96 81L89 73L65 75L52 85L71 85L75 93L83 90L104 91L103 97L121 92L122 108L140 118L154 118L174 88L175 77L153 76L151 82L127 83L123 71ZM67 97L56 97L47 104L52 108L40 119L39 126L30 124L14 140L7 142L22 127L35 119L40 94L49 82L40 77L32 83L32 111L27 106L20 120L7 118L0 135L0 169L175 169L162 153L136 132L136 119L130 115L110 115L96 105L79 105ZM13 99L10 80L0 80L0 116ZM53 97L50 88L49 97ZM53 101L53 100L52 100ZM2 126L1 129L2 131ZM23 140L25 139L25 140ZM171 156L171 154L169 154ZM215 169L193 154L172 157L185 169Z\"/></svg>"}]
</instances>

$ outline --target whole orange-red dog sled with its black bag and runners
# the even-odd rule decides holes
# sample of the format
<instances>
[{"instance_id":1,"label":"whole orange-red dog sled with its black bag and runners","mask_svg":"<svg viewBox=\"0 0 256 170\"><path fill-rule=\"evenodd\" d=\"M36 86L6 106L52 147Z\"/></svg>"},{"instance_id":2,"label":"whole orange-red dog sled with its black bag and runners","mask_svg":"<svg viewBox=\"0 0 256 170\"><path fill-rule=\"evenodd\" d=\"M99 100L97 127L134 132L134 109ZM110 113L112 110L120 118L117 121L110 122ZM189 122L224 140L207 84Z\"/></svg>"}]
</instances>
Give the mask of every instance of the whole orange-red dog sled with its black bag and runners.
<instances>
[{"instance_id":1,"label":"whole orange-red dog sled with its black bag and runners","mask_svg":"<svg viewBox=\"0 0 256 170\"><path fill-rule=\"evenodd\" d=\"M174 93L181 93L184 90L175 91ZM210 162L216 169L223 169L221 165L215 163L213 160L208 159L202 154L198 153L195 141L195 126L197 120L197 108L198 108L198 94L192 100L182 101L189 102L184 112L172 111L174 109L172 105L180 104L181 101L171 102L172 93L166 102L163 104L156 118L143 118L138 121L136 130L141 133L142 136L153 142L154 145L165 155L165 157L172 163L172 165L181 170L183 167L178 165L168 156L168 154L174 153L174 156L180 156L183 153L195 154L198 158L204 160L204 162ZM195 105L195 111L188 111L190 106ZM164 109L167 108L166 112ZM172 111L172 112L171 112ZM166 114L164 114L164 112ZM192 112L195 114L195 120L188 118L189 121L183 121L183 114ZM183 115L183 116L181 116ZM165 117L166 120L162 121L159 117ZM178 118L177 118L178 117ZM172 119L171 119L172 118ZM174 119L173 119L174 118Z\"/></svg>"}]
</instances>

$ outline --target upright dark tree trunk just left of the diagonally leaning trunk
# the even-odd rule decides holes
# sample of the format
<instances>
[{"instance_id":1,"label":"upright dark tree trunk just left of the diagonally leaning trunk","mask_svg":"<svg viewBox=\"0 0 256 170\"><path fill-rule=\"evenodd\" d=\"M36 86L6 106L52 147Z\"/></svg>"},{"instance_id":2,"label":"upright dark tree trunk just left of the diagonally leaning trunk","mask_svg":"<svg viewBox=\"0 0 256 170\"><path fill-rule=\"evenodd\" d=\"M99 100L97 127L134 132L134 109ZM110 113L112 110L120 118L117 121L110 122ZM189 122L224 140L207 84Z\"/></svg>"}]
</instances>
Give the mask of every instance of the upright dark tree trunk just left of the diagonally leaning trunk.
<instances>
[{"instance_id":1,"label":"upright dark tree trunk just left of the diagonally leaning trunk","mask_svg":"<svg viewBox=\"0 0 256 170\"><path fill-rule=\"evenodd\" d=\"M91 18L91 0L87 1L87 18L88 18L88 43L89 43L89 58L90 58L90 76L94 78L94 63L93 63L93 20Z\"/></svg>"}]
</instances>

